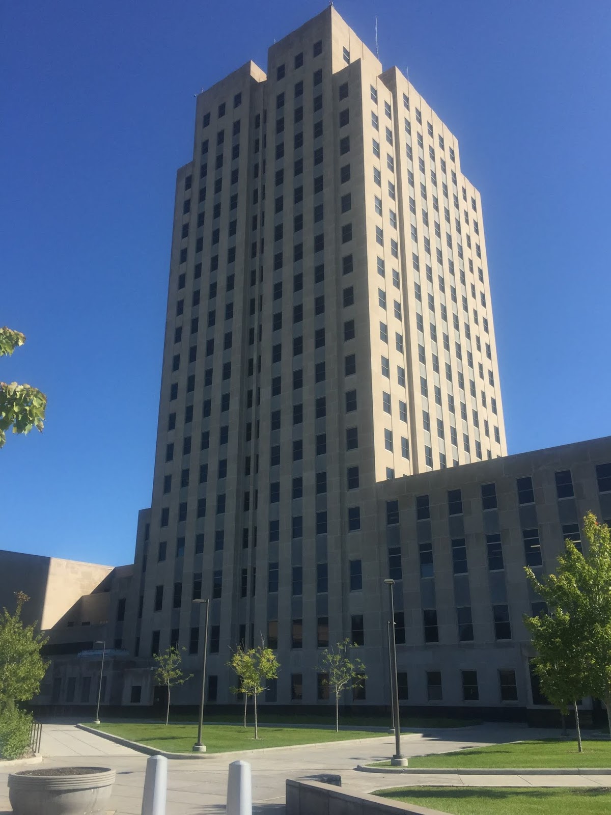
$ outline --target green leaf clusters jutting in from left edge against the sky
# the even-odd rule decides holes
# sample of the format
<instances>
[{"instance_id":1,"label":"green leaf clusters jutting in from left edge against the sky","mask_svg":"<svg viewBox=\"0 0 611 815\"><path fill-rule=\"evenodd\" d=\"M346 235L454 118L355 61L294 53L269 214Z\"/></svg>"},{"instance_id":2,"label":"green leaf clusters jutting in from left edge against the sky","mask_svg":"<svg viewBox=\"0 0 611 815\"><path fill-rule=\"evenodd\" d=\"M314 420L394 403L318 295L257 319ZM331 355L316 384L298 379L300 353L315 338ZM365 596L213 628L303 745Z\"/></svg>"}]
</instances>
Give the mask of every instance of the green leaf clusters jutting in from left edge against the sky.
<instances>
[{"instance_id":1,"label":"green leaf clusters jutting in from left edge against the sky","mask_svg":"<svg viewBox=\"0 0 611 815\"><path fill-rule=\"evenodd\" d=\"M25 337L11 328L0 328L0 356L11 356L22 346ZM31 385L0 382L0 447L7 441L7 430L29 433L35 427L42 433L46 410L46 396Z\"/></svg>"}]
</instances>

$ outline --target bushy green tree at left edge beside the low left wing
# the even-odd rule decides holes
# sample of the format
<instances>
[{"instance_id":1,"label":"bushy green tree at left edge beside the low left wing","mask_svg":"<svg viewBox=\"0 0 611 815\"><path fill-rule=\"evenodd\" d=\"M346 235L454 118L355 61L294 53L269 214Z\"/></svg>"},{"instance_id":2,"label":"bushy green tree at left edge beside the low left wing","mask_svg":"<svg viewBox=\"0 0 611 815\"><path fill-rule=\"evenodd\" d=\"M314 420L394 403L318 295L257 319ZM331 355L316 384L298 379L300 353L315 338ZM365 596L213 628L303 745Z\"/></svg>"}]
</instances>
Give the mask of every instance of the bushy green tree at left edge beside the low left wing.
<instances>
[{"instance_id":1,"label":"bushy green tree at left edge beside the low left wing","mask_svg":"<svg viewBox=\"0 0 611 815\"><path fill-rule=\"evenodd\" d=\"M29 597L23 592L15 592L15 597L15 614L6 608L0 614L0 714L40 692L47 666L40 654L46 638L36 633L34 624L24 625L21 619Z\"/></svg>"}]
</instances>

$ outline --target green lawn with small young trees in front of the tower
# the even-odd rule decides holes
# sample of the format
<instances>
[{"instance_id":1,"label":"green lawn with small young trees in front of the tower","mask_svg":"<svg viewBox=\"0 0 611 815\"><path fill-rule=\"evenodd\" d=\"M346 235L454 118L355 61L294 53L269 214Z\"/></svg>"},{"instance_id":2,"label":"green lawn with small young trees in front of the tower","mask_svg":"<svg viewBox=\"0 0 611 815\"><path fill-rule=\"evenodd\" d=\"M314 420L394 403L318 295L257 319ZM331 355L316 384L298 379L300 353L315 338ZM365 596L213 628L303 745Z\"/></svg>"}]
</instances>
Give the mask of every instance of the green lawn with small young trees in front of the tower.
<instances>
[{"instance_id":1,"label":"green lawn with small young trees in front of the tower","mask_svg":"<svg viewBox=\"0 0 611 815\"><path fill-rule=\"evenodd\" d=\"M151 725L104 722L88 727L103 730L131 742L147 744L174 753L190 753L197 738L195 725ZM317 742L342 742L349 738L375 738L379 733L371 730L322 730L314 728L261 727L255 741L253 727L244 730L240 725L204 725L202 740L206 752L222 753L230 750L261 750L263 747L287 747L291 744L315 744Z\"/></svg>"}]
</instances>

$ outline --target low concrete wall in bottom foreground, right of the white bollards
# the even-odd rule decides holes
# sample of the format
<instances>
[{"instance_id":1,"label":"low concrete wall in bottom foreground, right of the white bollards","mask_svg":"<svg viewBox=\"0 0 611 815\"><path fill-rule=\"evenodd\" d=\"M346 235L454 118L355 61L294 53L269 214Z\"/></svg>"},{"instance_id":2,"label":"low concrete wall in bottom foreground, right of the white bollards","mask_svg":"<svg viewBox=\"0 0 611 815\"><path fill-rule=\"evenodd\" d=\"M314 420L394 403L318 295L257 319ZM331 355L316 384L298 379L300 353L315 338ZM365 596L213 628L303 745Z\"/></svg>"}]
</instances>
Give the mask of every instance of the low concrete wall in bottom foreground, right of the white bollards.
<instances>
[{"instance_id":1,"label":"low concrete wall in bottom foreground, right of the white bollards","mask_svg":"<svg viewBox=\"0 0 611 815\"><path fill-rule=\"evenodd\" d=\"M447 815L439 809L402 804L377 795L354 795L340 787L287 778L286 815Z\"/></svg>"}]
</instances>

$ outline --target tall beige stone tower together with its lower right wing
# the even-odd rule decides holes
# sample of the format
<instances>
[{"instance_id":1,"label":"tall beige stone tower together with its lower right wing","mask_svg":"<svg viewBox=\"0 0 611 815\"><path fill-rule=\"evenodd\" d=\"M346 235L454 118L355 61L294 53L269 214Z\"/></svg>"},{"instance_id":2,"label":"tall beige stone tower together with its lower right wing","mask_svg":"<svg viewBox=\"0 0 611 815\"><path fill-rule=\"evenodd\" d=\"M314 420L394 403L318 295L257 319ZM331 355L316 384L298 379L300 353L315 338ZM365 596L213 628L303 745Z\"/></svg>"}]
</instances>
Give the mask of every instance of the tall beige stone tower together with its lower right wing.
<instances>
[{"instance_id":1,"label":"tall beige stone tower together with its lower right wing","mask_svg":"<svg viewBox=\"0 0 611 815\"><path fill-rule=\"evenodd\" d=\"M265 641L282 666L266 702L327 704L320 652L349 637L354 703L388 704L390 575L404 703L529 706L523 566L552 568L587 509L611 518L610 461L609 439L507 456L479 192L447 126L329 7L267 73L248 62L197 97L109 694L151 703L152 654L178 644L194 679L175 698L196 703L192 600L209 598L209 702L235 701L231 650Z\"/></svg>"}]
</instances>

